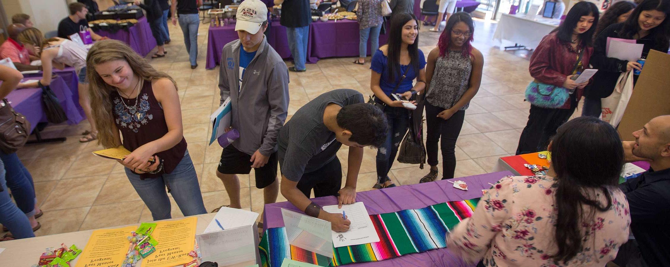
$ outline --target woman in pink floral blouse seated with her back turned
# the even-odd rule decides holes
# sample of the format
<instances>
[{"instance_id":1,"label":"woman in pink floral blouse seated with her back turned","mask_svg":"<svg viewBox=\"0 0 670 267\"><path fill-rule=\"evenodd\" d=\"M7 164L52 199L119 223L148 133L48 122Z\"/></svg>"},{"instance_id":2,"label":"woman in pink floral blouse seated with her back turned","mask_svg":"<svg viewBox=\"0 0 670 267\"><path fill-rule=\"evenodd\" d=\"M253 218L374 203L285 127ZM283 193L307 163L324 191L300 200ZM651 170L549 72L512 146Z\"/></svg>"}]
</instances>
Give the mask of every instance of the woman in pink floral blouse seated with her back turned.
<instances>
[{"instance_id":1,"label":"woman in pink floral blouse seated with her back turned","mask_svg":"<svg viewBox=\"0 0 670 267\"><path fill-rule=\"evenodd\" d=\"M599 119L563 124L549 144L549 174L502 178L448 234L447 248L478 266L605 266L630 226L616 186L620 144Z\"/></svg>"}]
</instances>

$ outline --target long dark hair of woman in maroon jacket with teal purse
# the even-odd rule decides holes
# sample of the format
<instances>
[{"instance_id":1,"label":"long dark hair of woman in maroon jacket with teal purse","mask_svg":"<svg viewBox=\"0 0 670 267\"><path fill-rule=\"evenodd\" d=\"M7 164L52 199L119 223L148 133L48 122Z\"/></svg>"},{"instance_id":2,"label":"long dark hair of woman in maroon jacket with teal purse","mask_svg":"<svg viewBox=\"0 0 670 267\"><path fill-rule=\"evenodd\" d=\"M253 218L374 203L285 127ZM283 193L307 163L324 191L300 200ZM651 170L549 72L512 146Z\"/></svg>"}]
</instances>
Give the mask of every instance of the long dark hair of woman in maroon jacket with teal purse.
<instances>
[{"instance_id":1,"label":"long dark hair of woman in maroon jacket with teal purse","mask_svg":"<svg viewBox=\"0 0 670 267\"><path fill-rule=\"evenodd\" d=\"M556 29L558 39L563 42L572 42L572 33L577 27L577 23L580 22L582 16L592 15L594 17L593 25L588 31L584 34L580 34L580 39L582 39L582 44L584 46L592 46L593 44L593 32L596 31L596 26L598 25L598 16L600 15L598 7L594 3L581 1L577 2L570 11L565 15L565 21L561 23Z\"/></svg>"}]
</instances>

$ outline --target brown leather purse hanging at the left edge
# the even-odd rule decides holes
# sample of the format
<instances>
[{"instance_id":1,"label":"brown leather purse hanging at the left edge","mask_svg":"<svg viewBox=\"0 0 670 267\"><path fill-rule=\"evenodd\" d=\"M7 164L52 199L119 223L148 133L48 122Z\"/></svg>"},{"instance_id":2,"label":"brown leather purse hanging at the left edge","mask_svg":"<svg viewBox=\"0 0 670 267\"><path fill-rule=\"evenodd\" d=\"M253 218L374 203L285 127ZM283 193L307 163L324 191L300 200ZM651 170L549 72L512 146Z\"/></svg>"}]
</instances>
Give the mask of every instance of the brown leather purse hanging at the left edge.
<instances>
[{"instance_id":1,"label":"brown leather purse hanging at the left edge","mask_svg":"<svg viewBox=\"0 0 670 267\"><path fill-rule=\"evenodd\" d=\"M16 112L7 99L0 103L0 150L12 154L19 150L30 135L30 122L23 114Z\"/></svg>"}]
</instances>

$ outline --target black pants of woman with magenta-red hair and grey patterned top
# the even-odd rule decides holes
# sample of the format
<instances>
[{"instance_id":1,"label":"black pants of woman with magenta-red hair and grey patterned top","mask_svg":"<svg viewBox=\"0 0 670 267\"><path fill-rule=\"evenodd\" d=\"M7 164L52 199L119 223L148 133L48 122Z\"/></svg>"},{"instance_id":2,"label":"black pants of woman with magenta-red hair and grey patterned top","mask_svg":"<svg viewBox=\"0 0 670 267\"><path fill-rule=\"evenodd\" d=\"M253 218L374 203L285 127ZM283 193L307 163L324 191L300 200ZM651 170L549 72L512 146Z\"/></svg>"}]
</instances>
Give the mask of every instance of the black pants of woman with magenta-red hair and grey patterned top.
<instances>
[{"instance_id":1,"label":"black pants of woman with magenta-red hair and grey patterned top","mask_svg":"<svg viewBox=\"0 0 670 267\"><path fill-rule=\"evenodd\" d=\"M438 141L442 150L442 180L454 178L456 170L456 140L465 119L465 111L456 111L447 120L438 117L442 107L435 107L425 102L425 122L427 134L425 150L430 166L438 165Z\"/></svg>"}]
</instances>

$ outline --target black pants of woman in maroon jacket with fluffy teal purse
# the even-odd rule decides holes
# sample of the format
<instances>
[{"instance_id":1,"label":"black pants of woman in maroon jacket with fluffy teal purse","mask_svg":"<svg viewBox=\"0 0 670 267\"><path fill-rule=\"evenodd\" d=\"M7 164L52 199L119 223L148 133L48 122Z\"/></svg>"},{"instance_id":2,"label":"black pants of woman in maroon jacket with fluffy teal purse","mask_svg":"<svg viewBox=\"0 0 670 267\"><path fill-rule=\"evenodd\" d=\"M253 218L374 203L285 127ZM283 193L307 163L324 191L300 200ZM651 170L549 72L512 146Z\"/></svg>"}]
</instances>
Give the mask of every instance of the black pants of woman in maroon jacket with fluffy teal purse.
<instances>
[{"instance_id":1,"label":"black pants of woman in maroon jacket with fluffy teal purse","mask_svg":"<svg viewBox=\"0 0 670 267\"><path fill-rule=\"evenodd\" d=\"M547 150L549 138L556 134L556 129L567 121L577 107L572 101L569 109L545 109L531 105L526 127L521 132L517 155Z\"/></svg>"}]
</instances>

